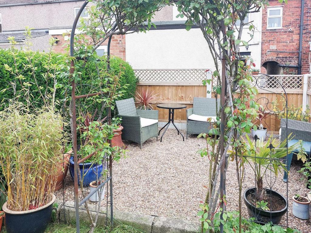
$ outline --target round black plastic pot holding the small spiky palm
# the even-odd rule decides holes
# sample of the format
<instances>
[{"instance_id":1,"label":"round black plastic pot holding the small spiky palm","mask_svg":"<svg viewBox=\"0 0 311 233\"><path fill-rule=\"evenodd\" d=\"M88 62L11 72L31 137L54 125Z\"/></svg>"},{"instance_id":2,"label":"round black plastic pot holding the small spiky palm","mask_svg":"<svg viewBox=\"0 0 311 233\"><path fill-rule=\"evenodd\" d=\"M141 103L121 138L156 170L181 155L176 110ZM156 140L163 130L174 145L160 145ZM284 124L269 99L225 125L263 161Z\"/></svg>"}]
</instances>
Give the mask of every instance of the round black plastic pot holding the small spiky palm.
<instances>
[{"instance_id":1,"label":"round black plastic pot holding the small spiky palm","mask_svg":"<svg viewBox=\"0 0 311 233\"><path fill-rule=\"evenodd\" d=\"M267 211L267 210L262 210L260 208L256 208L256 206L254 206L252 203L248 201L248 199L246 199L246 197L249 194L254 194L255 192L256 192L256 188L249 188L245 190L244 192L244 203L246 205L248 215L250 217L255 218L255 221L258 223L272 222L273 224L279 224L281 222L283 215L286 213L287 208L288 208L288 203L287 203L286 198L282 194L276 191L266 189L268 196L273 195L273 196L279 197L280 199L284 200L284 203L285 203L285 207L281 210L277 210L277 211L268 210Z\"/></svg>"}]
</instances>

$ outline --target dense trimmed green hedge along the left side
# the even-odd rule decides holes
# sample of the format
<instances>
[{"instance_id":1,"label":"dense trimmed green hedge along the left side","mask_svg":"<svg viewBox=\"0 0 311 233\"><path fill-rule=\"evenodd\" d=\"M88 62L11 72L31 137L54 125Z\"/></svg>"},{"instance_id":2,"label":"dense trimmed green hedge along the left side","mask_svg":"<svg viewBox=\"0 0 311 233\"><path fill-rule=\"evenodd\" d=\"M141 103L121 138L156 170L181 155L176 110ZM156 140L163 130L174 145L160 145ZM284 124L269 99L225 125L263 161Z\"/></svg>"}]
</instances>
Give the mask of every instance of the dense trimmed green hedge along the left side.
<instances>
[{"instance_id":1,"label":"dense trimmed green hedge along the left side","mask_svg":"<svg viewBox=\"0 0 311 233\"><path fill-rule=\"evenodd\" d=\"M41 86L45 86L44 85L44 79L42 77L42 74L43 74L43 72L45 72L45 69L42 66L42 61L44 61L44 59L48 59L49 54L48 53L40 53L40 52L25 52L25 51L19 51L17 53L17 57L18 57L17 62L19 63L18 70L19 71L24 70L23 75L25 76L25 82L28 82L28 81L33 82L34 81L33 78L31 77L31 74L29 73L29 71L27 69L24 69L24 66L22 65L23 63L28 64L26 57L25 57L26 53L33 53L32 54L32 57L33 57L32 61L33 61L33 64L35 65L35 67L37 67L37 70L35 71L35 73L36 73L38 83ZM67 65L66 56L63 54L58 54L58 53L52 53L51 62L53 64L59 63L59 64ZM10 51L0 49L0 90L11 88L10 83L13 82L15 79L13 75L11 75L8 71L5 70L4 64L7 64L8 66L13 68L14 67L14 60L13 60L12 55L10 54ZM123 99L131 98L135 94L136 83L138 80L134 74L132 67L127 62L123 61L119 57L113 57L110 59L110 67L111 67L112 72L118 73L120 65L125 67L124 73L120 79L120 85L123 86L125 84L129 84L128 88L126 89L127 92L124 94ZM100 66L106 67L107 63L106 62L100 62ZM89 80L89 77L90 77L89 74L90 73L97 74L97 70L95 68L95 65L88 65L88 68L82 72L81 83L86 83ZM58 82L58 84L62 84L65 86L65 85L67 85L68 80L58 78L57 82ZM53 87L52 81L51 81L51 83L49 83L49 86ZM20 90L21 86L19 84L17 84L16 89ZM39 97L39 92L38 92L36 85L32 85L30 89L31 89L31 94L34 96L34 99ZM62 91L63 91L62 88L57 89L56 99L59 101L63 99L63 96L61 94ZM11 88L11 91L6 90L5 92L0 92L0 101L2 101L3 99L6 99L6 98L11 99L12 97L13 97L12 88ZM40 107L40 104L41 103L38 103L37 107Z\"/></svg>"}]
</instances>

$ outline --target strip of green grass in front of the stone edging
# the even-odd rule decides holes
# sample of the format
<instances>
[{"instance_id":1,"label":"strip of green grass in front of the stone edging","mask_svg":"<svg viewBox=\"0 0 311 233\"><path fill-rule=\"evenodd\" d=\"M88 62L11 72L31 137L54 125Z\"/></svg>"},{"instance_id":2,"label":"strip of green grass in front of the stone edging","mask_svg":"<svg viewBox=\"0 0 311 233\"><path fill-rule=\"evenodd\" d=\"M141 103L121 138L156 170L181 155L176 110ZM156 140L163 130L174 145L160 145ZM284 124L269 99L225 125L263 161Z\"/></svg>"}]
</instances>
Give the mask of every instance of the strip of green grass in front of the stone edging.
<instances>
[{"instance_id":1,"label":"strip of green grass in front of the stone edging","mask_svg":"<svg viewBox=\"0 0 311 233\"><path fill-rule=\"evenodd\" d=\"M80 232L87 233L90 230L90 226L86 224L80 225ZM2 228L1 233L6 233L5 228ZM51 223L46 229L45 233L76 233L76 226L67 225L63 223ZM118 225L114 226L114 229L111 231L109 227L96 227L94 233L144 233L144 231L138 230L132 226L127 225Z\"/></svg>"}]
</instances>

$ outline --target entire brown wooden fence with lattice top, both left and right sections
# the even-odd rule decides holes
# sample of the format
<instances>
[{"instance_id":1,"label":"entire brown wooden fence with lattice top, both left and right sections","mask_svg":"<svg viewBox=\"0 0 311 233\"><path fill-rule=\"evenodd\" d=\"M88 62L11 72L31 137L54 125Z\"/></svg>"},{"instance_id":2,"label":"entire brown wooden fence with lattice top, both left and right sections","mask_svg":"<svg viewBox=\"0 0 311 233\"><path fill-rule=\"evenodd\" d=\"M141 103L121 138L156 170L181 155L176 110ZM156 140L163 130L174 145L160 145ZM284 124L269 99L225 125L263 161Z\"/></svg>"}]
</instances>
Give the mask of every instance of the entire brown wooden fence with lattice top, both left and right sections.
<instances>
[{"instance_id":1,"label":"entire brown wooden fence with lattice top, both left and right sections","mask_svg":"<svg viewBox=\"0 0 311 233\"><path fill-rule=\"evenodd\" d=\"M207 97L207 90L212 87L202 85L202 80L211 77L211 73L205 72L205 69L184 69L184 70L135 70L139 78L137 91L148 89L161 95L160 103L182 103L187 109L193 106L193 97ZM267 79L262 76L253 85L258 88L259 94L256 96L258 102L262 105L276 99L280 103L285 88L288 105L300 106L303 104L311 106L311 76L309 75L274 75L274 79ZM277 80L277 81L276 81ZM213 80L216 85L217 80ZM211 85L212 86L212 85ZM273 93L272 93L273 92ZM304 103L303 98L306 98ZM270 106L269 106L270 107ZM159 110L159 121L167 121L168 110ZM175 111L176 122L186 122L186 111L181 109ZM275 116L270 116L264 122L264 125L271 131L278 132L280 121Z\"/></svg>"}]
</instances>

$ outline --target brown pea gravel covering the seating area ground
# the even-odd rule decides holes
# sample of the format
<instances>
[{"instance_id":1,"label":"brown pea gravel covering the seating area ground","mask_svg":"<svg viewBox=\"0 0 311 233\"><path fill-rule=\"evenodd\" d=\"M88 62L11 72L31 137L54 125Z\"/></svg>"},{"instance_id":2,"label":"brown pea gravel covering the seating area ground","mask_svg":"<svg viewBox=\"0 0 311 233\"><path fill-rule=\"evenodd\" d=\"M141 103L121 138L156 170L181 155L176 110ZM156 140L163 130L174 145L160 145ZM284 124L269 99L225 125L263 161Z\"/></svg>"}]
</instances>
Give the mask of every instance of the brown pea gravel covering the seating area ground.
<instances>
[{"instance_id":1,"label":"brown pea gravel covering the seating area ground","mask_svg":"<svg viewBox=\"0 0 311 233\"><path fill-rule=\"evenodd\" d=\"M126 143L127 158L113 165L114 208L197 222L198 205L205 199L204 185L208 184L208 158L201 158L197 153L206 146L205 140L192 135L183 142L176 130L168 129L162 142L160 139L149 139L142 149L138 144ZM288 182L288 226L309 233L311 221L300 220L292 215L291 197L296 193L305 195L308 192L304 181L300 180L302 175L297 173L301 166L302 163L293 158ZM282 178L283 174L276 177L272 189L286 196L286 183ZM254 179L253 170L249 165L246 166L243 192L254 186ZM267 185L266 181L264 183ZM227 210L238 210L238 194L235 164L230 162L226 178ZM63 199L63 189L57 191L56 196ZM64 196L65 201L73 199L73 182L69 172ZM244 217L248 217L244 202L242 209ZM286 215L281 224L286 225Z\"/></svg>"}]
</instances>

